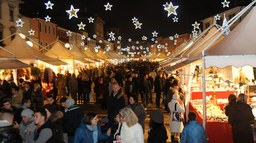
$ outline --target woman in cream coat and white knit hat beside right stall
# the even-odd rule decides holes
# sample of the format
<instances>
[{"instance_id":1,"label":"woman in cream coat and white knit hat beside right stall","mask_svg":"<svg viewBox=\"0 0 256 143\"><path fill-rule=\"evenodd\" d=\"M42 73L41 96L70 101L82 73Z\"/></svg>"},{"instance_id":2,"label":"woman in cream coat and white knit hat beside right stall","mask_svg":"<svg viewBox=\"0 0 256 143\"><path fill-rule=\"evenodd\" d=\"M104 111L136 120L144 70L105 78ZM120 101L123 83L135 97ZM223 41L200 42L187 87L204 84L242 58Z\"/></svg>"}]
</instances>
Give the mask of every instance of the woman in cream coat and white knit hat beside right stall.
<instances>
[{"instance_id":1,"label":"woman in cream coat and white knit hat beside right stall","mask_svg":"<svg viewBox=\"0 0 256 143\"><path fill-rule=\"evenodd\" d=\"M168 103L168 107L171 111L169 130L172 133L171 135L172 142L175 142L175 141L180 142L180 135L182 133L184 126L182 122L172 121L172 111L175 111L175 104L176 104L176 110L178 112L182 112L182 113L185 112L184 104L180 100L180 95L178 95L177 93L172 95L172 101Z\"/></svg>"}]
</instances>

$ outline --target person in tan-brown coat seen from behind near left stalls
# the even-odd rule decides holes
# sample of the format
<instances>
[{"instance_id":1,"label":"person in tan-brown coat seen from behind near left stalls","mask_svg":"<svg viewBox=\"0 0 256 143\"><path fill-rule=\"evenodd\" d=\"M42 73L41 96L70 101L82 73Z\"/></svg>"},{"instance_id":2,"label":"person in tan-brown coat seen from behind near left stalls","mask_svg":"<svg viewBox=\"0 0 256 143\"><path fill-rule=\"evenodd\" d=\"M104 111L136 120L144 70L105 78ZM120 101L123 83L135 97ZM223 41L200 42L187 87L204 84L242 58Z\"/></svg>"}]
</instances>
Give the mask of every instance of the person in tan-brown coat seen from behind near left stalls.
<instances>
[{"instance_id":1,"label":"person in tan-brown coat seen from behind near left stalls","mask_svg":"<svg viewBox=\"0 0 256 143\"><path fill-rule=\"evenodd\" d=\"M56 81L56 88L58 88L58 97L59 101L61 99L61 96L66 97L67 94L67 81L63 78L63 75L59 75L59 79Z\"/></svg>"}]
</instances>

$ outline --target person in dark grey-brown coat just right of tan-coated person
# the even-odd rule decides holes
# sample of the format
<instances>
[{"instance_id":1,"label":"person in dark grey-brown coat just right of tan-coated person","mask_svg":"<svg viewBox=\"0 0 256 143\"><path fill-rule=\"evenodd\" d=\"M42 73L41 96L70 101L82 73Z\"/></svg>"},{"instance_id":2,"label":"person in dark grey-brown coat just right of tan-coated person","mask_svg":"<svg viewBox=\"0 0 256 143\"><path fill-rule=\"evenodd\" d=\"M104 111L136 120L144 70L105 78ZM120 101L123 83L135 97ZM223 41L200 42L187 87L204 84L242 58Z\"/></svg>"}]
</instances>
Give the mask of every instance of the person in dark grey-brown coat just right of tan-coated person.
<instances>
[{"instance_id":1,"label":"person in dark grey-brown coat just right of tan-coated person","mask_svg":"<svg viewBox=\"0 0 256 143\"><path fill-rule=\"evenodd\" d=\"M78 82L76 80L76 75L72 75L72 78L69 80L69 88L71 97L75 100L75 104L77 101L77 93L78 93Z\"/></svg>"}]
</instances>

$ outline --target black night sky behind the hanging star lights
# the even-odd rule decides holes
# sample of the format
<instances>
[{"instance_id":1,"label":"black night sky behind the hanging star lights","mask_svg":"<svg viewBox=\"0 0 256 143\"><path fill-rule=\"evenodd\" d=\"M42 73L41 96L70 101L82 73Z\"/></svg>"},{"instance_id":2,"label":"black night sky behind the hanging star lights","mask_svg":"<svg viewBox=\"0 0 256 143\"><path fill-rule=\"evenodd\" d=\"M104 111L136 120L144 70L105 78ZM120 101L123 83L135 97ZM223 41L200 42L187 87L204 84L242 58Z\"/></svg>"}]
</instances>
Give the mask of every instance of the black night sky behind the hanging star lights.
<instances>
[{"instance_id":1,"label":"black night sky behind the hanging star lights","mask_svg":"<svg viewBox=\"0 0 256 143\"><path fill-rule=\"evenodd\" d=\"M228 0L229 8L223 8L221 2L224 0L51 0L53 3L52 9L45 9L48 0L23 0L25 3L20 4L20 13L28 17L41 17L44 19L46 15L52 17L51 22L54 22L54 17L66 17L65 24L73 25L74 28L78 26L76 22L68 19L66 10L70 9L70 5L74 8L79 8L77 15L84 13L84 8L87 7L87 13L98 14L106 23L113 23L119 26L119 33L123 39L142 40L141 37L145 35L150 40L156 31L158 37L169 37L176 33L192 31L192 24L196 21L217 15L221 12L229 10L236 6L247 6L251 0L236 0L242 1L239 4L235 0ZM111 11L105 11L104 5L107 3L113 5ZM175 15L168 15L168 11L164 10L166 2L172 2L173 6L179 6L176 9L178 22L173 22ZM38 13L38 14L37 14ZM141 25L141 29L135 29L132 18L136 17ZM75 19L73 17L72 19ZM59 25L59 23L54 22ZM65 25L62 23L62 25ZM202 26L202 24L200 25ZM65 27L64 27L65 28ZM201 28L202 30L202 28ZM115 35L117 38L119 35Z\"/></svg>"}]
</instances>

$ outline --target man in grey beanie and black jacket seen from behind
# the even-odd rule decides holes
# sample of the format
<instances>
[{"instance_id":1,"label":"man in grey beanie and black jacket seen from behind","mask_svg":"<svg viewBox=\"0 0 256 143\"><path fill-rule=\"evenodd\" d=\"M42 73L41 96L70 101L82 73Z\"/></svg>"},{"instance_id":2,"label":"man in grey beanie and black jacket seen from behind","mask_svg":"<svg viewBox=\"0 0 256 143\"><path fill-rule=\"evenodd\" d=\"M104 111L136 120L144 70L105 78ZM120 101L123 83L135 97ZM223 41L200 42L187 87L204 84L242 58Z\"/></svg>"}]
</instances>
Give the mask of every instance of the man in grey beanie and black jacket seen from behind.
<instances>
[{"instance_id":1,"label":"man in grey beanie and black jacket seen from behind","mask_svg":"<svg viewBox=\"0 0 256 143\"><path fill-rule=\"evenodd\" d=\"M84 113L72 98L66 100L68 111L63 116L64 132L68 134L68 142L73 142L76 129L80 126Z\"/></svg>"}]
</instances>

